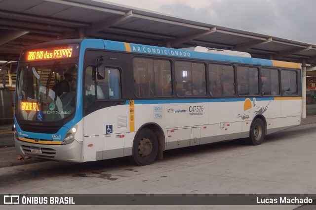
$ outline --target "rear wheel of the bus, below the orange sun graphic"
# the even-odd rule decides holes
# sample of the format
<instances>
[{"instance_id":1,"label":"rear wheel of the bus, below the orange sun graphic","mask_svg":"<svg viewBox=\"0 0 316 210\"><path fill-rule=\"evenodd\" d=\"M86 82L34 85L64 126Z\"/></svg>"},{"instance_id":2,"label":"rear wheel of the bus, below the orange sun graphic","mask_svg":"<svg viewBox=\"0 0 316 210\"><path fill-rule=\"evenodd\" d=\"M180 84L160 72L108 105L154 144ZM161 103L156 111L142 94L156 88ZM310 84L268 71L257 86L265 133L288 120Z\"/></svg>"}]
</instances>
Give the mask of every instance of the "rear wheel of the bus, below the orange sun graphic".
<instances>
[{"instance_id":1,"label":"rear wheel of the bus, below the orange sun graphic","mask_svg":"<svg viewBox=\"0 0 316 210\"><path fill-rule=\"evenodd\" d=\"M261 145L266 135L265 123L257 118L250 127L249 138L246 139L248 145Z\"/></svg>"}]
</instances>

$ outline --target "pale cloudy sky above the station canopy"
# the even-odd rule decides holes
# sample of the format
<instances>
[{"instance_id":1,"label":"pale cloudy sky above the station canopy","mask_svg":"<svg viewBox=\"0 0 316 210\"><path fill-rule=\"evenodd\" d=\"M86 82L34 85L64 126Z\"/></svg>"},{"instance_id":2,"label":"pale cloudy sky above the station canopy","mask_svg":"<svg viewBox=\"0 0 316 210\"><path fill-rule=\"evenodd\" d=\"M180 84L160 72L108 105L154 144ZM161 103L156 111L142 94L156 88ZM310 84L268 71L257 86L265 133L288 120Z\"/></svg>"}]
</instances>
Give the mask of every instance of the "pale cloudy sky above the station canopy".
<instances>
[{"instance_id":1,"label":"pale cloudy sky above the station canopy","mask_svg":"<svg viewBox=\"0 0 316 210\"><path fill-rule=\"evenodd\" d=\"M106 0L232 29L316 44L316 0Z\"/></svg>"}]
</instances>

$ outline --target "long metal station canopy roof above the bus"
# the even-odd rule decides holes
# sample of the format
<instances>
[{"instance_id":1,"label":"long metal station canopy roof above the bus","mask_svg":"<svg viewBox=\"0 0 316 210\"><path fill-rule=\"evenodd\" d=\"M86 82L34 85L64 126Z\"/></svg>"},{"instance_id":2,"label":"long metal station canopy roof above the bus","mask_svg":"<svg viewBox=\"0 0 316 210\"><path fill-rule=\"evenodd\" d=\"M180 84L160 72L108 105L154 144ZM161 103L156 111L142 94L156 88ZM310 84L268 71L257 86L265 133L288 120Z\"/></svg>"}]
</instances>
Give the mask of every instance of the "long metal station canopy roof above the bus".
<instances>
[{"instance_id":1,"label":"long metal station canopy roof above the bus","mask_svg":"<svg viewBox=\"0 0 316 210\"><path fill-rule=\"evenodd\" d=\"M302 31L303 32L303 31ZM23 48L69 38L101 38L172 48L204 46L253 58L316 65L316 45L199 23L102 0L0 0L0 60Z\"/></svg>"}]
</instances>

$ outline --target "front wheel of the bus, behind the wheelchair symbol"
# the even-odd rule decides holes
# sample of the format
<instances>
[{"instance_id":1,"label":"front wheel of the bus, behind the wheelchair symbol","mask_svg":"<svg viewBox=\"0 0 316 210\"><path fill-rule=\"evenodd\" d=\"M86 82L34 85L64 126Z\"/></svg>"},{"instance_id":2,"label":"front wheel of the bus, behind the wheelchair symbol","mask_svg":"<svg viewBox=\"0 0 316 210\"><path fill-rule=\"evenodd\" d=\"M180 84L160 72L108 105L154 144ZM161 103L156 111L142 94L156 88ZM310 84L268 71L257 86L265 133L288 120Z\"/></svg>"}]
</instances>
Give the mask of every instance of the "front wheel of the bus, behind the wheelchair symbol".
<instances>
[{"instance_id":1,"label":"front wheel of the bus, behind the wheelchair symbol","mask_svg":"<svg viewBox=\"0 0 316 210\"><path fill-rule=\"evenodd\" d=\"M158 139L149 128L141 129L133 142L132 163L145 166L152 164L158 154Z\"/></svg>"}]
</instances>

